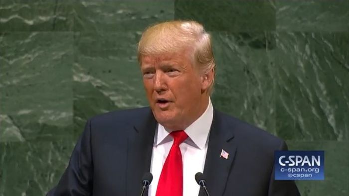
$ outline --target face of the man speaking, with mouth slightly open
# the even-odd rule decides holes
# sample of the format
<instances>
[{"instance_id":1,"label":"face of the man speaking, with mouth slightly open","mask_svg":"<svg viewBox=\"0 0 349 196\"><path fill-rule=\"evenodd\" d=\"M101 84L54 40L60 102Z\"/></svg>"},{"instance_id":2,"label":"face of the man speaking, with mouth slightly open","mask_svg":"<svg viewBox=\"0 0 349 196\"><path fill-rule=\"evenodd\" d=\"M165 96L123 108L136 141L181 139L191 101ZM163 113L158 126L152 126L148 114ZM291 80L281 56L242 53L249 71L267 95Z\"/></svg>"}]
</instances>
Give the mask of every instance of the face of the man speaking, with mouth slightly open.
<instances>
[{"instance_id":1,"label":"face of the man speaking, with mouth slightly open","mask_svg":"<svg viewBox=\"0 0 349 196\"><path fill-rule=\"evenodd\" d=\"M206 110L209 81L184 52L144 56L141 62L147 99L155 119L165 128L183 130Z\"/></svg>"}]
</instances>

